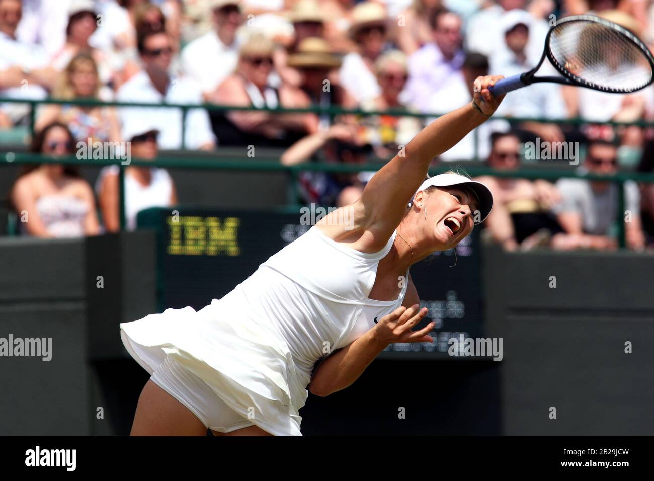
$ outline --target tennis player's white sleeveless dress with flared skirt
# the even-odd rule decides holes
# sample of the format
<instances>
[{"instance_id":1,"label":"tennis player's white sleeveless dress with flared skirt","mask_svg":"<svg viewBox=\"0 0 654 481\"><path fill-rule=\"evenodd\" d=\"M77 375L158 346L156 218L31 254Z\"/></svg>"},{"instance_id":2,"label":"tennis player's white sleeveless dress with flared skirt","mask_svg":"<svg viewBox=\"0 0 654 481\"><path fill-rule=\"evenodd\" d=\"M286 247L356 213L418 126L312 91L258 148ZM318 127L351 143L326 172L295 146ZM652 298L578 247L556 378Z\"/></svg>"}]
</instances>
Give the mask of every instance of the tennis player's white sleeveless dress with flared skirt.
<instances>
[{"instance_id":1,"label":"tennis player's white sleeveless dress with flared skirt","mask_svg":"<svg viewBox=\"0 0 654 481\"><path fill-rule=\"evenodd\" d=\"M316 361L402 305L408 271L396 300L368 298L379 260L395 237L393 233L377 253L362 253L314 226L222 299L198 312L167 309L122 323L122 340L150 374L157 374L164 361L175 363L177 370L165 376L173 381L158 382L162 387L183 378L184 370L192 374L186 395L180 395L181 387L165 389L210 429L229 432L258 425L273 435L300 436L299 410ZM200 405L207 401L196 399L199 386L235 416L209 419Z\"/></svg>"}]
</instances>

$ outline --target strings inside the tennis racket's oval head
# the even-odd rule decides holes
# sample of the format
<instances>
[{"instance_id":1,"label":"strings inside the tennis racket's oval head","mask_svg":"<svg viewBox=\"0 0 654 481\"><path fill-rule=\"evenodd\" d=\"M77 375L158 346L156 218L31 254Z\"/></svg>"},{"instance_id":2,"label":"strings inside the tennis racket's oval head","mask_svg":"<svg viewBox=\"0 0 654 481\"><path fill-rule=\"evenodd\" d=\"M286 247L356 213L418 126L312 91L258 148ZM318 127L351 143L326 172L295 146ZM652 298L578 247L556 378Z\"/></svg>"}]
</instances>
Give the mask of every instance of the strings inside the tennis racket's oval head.
<instances>
[{"instance_id":1,"label":"strings inside the tennis racket's oval head","mask_svg":"<svg viewBox=\"0 0 654 481\"><path fill-rule=\"evenodd\" d=\"M633 92L649 84L645 52L611 27L583 20L555 27L549 49L559 68L602 90Z\"/></svg>"}]
</instances>

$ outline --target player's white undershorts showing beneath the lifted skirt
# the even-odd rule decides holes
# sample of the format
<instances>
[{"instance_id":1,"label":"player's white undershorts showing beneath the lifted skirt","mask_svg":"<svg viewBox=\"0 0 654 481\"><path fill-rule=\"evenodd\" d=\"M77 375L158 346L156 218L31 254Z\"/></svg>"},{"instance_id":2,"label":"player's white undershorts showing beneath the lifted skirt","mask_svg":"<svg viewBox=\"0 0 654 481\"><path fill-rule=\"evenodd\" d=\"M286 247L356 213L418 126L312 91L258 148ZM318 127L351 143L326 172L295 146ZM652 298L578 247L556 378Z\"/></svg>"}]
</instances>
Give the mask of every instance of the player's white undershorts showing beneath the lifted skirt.
<instances>
[{"instance_id":1,"label":"player's white undershorts showing beneath the lifted skirt","mask_svg":"<svg viewBox=\"0 0 654 481\"><path fill-rule=\"evenodd\" d=\"M207 383L170 356L165 357L150 379L184 404L208 429L230 433L254 426L222 401Z\"/></svg>"}]
</instances>

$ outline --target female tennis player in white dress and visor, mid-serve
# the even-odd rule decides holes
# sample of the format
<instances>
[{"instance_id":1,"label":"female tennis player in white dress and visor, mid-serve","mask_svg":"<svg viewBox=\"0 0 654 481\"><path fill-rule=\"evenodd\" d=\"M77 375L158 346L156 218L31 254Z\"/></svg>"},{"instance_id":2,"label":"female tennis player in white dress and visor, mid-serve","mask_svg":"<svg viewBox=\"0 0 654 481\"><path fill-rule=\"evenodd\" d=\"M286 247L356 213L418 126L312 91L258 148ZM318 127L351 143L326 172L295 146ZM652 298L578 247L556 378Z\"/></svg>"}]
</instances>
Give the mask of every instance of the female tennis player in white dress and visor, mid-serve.
<instances>
[{"instance_id":1,"label":"female tennis player in white dress and visor, mid-serve","mask_svg":"<svg viewBox=\"0 0 654 481\"><path fill-rule=\"evenodd\" d=\"M427 310L409 266L455 247L477 213L487 217L492 195L456 173L424 179L434 156L495 111L503 96L489 86L499 79L478 77L473 101L417 134L357 202L222 299L122 323L125 347L152 374L131 435L301 435L307 386L326 396L351 385L388 344L433 342L434 323L411 330Z\"/></svg>"}]
</instances>

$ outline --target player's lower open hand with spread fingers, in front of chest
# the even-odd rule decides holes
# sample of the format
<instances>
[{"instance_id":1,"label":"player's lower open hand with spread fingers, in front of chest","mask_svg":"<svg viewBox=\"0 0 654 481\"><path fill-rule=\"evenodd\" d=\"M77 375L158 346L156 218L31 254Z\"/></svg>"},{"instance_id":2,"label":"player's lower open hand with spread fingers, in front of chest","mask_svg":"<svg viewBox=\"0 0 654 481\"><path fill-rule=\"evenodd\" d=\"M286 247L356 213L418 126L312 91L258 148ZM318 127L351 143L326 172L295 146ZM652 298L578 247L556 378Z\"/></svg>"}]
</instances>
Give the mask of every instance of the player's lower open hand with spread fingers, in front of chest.
<instances>
[{"instance_id":1,"label":"player's lower open hand with spread fingers, in front of chest","mask_svg":"<svg viewBox=\"0 0 654 481\"><path fill-rule=\"evenodd\" d=\"M404 306L397 308L394 312L385 315L373 330L379 342L391 344L393 342L434 342L427 332L433 329L434 323L430 322L421 330L411 330L424 316L427 315L427 308L420 308L419 304L413 304L410 308Z\"/></svg>"}]
</instances>

